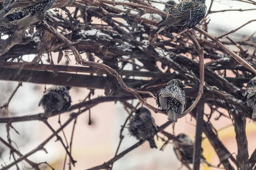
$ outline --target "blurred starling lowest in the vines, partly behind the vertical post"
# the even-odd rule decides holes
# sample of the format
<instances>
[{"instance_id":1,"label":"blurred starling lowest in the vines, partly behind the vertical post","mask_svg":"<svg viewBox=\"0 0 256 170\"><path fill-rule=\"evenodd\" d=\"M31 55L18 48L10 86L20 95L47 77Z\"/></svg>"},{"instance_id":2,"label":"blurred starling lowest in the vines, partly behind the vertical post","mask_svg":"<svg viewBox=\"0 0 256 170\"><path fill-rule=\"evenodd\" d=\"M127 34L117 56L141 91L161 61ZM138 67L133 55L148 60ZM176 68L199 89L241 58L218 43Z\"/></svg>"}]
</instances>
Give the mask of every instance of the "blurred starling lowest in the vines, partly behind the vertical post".
<instances>
[{"instance_id":1,"label":"blurred starling lowest in the vines, partly behind the vertical post","mask_svg":"<svg viewBox=\"0 0 256 170\"><path fill-rule=\"evenodd\" d=\"M187 136L184 133L180 133L178 136L176 136L178 140L181 141L177 142L178 146L179 146L179 150L180 150L180 154L182 156L182 159L188 163L188 164L192 164L193 163L193 151L194 151L194 140L191 139L189 136ZM173 150L178 158L177 155L177 148L174 146ZM203 152L203 149L201 149L201 152ZM179 158L178 158L179 159ZM201 163L206 163L209 166L210 165L204 158L203 155L201 155Z\"/></svg>"}]
</instances>

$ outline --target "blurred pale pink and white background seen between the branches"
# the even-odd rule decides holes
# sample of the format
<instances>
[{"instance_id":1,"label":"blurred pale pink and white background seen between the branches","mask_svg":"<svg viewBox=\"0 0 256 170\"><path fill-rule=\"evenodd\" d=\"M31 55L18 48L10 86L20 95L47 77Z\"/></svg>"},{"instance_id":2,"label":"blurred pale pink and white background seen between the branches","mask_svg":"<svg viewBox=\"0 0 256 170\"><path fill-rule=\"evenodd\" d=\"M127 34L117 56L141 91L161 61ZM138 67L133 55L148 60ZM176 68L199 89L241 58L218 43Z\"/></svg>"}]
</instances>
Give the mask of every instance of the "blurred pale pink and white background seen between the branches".
<instances>
[{"instance_id":1,"label":"blurred pale pink and white background seen between the branches","mask_svg":"<svg viewBox=\"0 0 256 170\"><path fill-rule=\"evenodd\" d=\"M166 2L163 0L163 2ZM178 3L178 1L175 1ZM206 4L209 8L211 1L207 0ZM163 10L164 5L159 3L153 3L154 6ZM119 7L119 6L116 6ZM120 7L121 8L121 7ZM223 10L223 9L250 9L256 8L253 4L242 3L235 0L214 0L212 11ZM220 12L210 14L210 23L209 23L209 33L213 36L220 36L225 32L229 32L242 24L246 23L249 20L255 19L256 11L230 11L230 12ZM149 16L145 16L149 17ZM157 20L157 16L156 20ZM160 20L160 17L158 17ZM92 18L93 22L101 22L96 18ZM252 34L256 31L256 22L250 23L247 26L241 28L236 34L232 34L230 37L234 39L241 39L246 37L249 34ZM254 41L256 38L254 36ZM250 50L250 49L249 49ZM55 56L54 56L55 55ZM54 54L53 58L58 57L58 53ZM31 61L34 56L30 55L24 60ZM64 61L61 61L60 64L64 65ZM75 65L75 63L69 63L69 65ZM125 68L129 70L129 67ZM232 75L230 75L232 77ZM12 94L12 91L17 86L17 82L5 82L0 81L0 105L3 105ZM46 85L49 88L51 85ZM13 97L12 101L9 104L9 116L24 116L30 114L42 113L43 109L38 107L38 102L43 95L45 85L35 85L31 83L23 83ZM72 97L72 105L78 102L81 102L89 93L89 90L85 88L76 88L73 87L70 90L70 96ZM92 98L97 96L104 95L103 90L95 90L95 95ZM137 105L137 100L133 101L133 105ZM148 99L147 102L153 106L155 105L154 99ZM187 106L188 107L188 106ZM209 107L205 105L205 113L209 113ZM222 113L228 116L227 111L223 110ZM61 114L61 122L65 122L69 118L70 113ZM155 119L155 122L158 126L162 125L167 121L167 116L163 114L152 113L152 116ZM0 116L3 118L5 115L5 110L0 111ZM123 105L119 102L105 102L97 105L91 109L91 119L92 124L88 125L88 112L81 114L77 119L77 125L74 132L73 146L72 146L72 155L73 158L77 161L76 167L73 167L73 170L85 170L90 167L94 167L102 164L113 158L116 152L116 148L119 143L119 133L120 128L124 124L128 113L125 111ZM218 114L213 114L217 117ZM60 125L58 124L58 116L54 116L48 119L50 125L56 130ZM218 121L212 121L212 125L218 130L218 136L221 142L227 147L230 153L233 153L233 156L236 156L237 153L237 144L236 144L236 135L232 122L230 119L225 119L223 116ZM43 142L47 137L49 137L52 132L49 128L44 125L43 122L39 121L29 121L29 122L20 122L13 123L13 127L20 133L15 133L14 130L10 130L10 136L12 141L17 145L17 148L20 150L20 153L27 153L30 150L34 149L41 142ZM1 124L0 127L0 136L7 140L6 127ZM70 123L65 129L67 140L70 140L72 133L73 123ZM166 128L166 131L173 133L172 125ZM186 133L190 137L194 138L195 136L195 119L191 118L190 115L187 115L178 120L175 124L175 135L179 133ZM256 136L256 123L253 121L247 120L246 126L247 139L248 139L248 149L249 155L255 150L255 136ZM63 133L59 135L64 139ZM134 137L130 136L128 129L125 128L123 135L125 136L119 153L123 150L131 147L133 144L138 142ZM28 157L34 162L43 162L47 161L55 170L64 169L64 159L66 152L62 147L59 141L55 142L56 137L54 137L50 142L45 146L48 153L44 151L38 151L32 156ZM145 142L142 146L132 150L130 153L126 154L124 157L119 159L113 164L113 170L177 170L181 167L180 161L175 156L173 151L173 145L168 144L167 147L160 151L160 147L163 145L163 141L155 139L158 149L150 149L148 142ZM13 145L15 145L13 144ZM204 139L202 142L202 147L204 149L204 156L207 161L213 165L219 164L219 159L215 154L211 144L207 139ZM0 164L3 166L10 163L9 160L9 148L0 144ZM12 160L12 159L11 159ZM68 165L65 165L65 169L68 169ZM29 169L29 165L26 163L19 163L20 169L26 170ZM42 165L40 166L42 170L50 170L51 168ZM11 169L17 169L15 166ZM181 170L185 170L186 167L182 167ZM201 165L201 170L215 170L217 168L207 167L207 165Z\"/></svg>"}]
</instances>

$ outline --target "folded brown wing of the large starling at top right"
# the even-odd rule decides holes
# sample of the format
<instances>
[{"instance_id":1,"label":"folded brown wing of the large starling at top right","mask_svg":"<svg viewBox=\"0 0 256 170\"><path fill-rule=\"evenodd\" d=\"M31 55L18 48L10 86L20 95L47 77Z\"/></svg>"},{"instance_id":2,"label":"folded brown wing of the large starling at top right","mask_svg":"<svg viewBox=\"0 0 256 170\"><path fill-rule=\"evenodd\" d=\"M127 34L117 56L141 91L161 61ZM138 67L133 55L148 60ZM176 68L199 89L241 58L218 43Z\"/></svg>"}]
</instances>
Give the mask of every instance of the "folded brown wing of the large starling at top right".
<instances>
[{"instance_id":1,"label":"folded brown wing of the large starling at top right","mask_svg":"<svg viewBox=\"0 0 256 170\"><path fill-rule=\"evenodd\" d=\"M176 23L181 22L186 17L189 17L193 14L194 11L190 10L194 3L182 3L175 6L175 8L172 8L168 11L169 15L165 17L160 23L158 23L158 26L170 26L174 25Z\"/></svg>"}]
</instances>

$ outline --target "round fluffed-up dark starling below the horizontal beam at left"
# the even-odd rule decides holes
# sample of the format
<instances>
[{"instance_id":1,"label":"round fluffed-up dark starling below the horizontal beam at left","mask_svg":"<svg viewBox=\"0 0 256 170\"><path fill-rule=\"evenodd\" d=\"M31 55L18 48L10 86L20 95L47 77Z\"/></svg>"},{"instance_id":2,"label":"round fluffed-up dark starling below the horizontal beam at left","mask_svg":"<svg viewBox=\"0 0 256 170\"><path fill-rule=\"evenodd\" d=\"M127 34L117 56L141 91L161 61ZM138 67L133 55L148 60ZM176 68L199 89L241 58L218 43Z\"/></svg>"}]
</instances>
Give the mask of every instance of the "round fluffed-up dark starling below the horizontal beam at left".
<instances>
[{"instance_id":1,"label":"round fluffed-up dark starling below the horizontal beam at left","mask_svg":"<svg viewBox=\"0 0 256 170\"><path fill-rule=\"evenodd\" d=\"M69 90L70 87L52 86L44 91L44 96L38 104L44 108L42 116L48 117L54 111L67 110L71 105Z\"/></svg>"}]
</instances>

